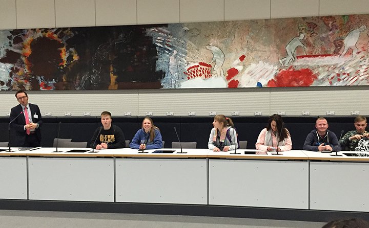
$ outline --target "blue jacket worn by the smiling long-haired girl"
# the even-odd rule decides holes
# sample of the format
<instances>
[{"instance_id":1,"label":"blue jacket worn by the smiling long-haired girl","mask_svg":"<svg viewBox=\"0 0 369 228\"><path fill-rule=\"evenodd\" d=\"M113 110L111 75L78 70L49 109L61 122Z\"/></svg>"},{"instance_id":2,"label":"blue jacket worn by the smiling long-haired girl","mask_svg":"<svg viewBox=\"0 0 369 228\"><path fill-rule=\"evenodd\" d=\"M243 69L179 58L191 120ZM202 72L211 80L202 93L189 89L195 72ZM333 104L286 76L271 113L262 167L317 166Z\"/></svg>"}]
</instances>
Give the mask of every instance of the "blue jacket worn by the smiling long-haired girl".
<instances>
[{"instance_id":1,"label":"blue jacket worn by the smiling long-haired girl","mask_svg":"<svg viewBox=\"0 0 369 228\"><path fill-rule=\"evenodd\" d=\"M130 143L130 148L139 149L139 145L146 142L146 149L160 149L162 148L161 134L158 129L155 129L154 142L150 141L150 133L146 133L144 129L139 129Z\"/></svg>"}]
</instances>

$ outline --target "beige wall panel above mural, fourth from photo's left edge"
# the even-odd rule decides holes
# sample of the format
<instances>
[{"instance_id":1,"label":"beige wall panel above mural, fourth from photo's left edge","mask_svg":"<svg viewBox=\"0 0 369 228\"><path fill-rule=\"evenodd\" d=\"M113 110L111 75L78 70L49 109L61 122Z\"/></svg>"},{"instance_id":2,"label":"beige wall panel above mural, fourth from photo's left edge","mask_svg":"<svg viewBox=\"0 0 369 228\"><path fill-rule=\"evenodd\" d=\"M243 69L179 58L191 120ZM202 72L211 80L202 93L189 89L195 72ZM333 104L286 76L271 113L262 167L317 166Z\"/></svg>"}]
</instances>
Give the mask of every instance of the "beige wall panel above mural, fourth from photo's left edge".
<instances>
[{"instance_id":1,"label":"beige wall panel above mural, fourth from photo's left edge","mask_svg":"<svg viewBox=\"0 0 369 228\"><path fill-rule=\"evenodd\" d=\"M95 0L96 26L137 24L136 0Z\"/></svg>"}]
</instances>

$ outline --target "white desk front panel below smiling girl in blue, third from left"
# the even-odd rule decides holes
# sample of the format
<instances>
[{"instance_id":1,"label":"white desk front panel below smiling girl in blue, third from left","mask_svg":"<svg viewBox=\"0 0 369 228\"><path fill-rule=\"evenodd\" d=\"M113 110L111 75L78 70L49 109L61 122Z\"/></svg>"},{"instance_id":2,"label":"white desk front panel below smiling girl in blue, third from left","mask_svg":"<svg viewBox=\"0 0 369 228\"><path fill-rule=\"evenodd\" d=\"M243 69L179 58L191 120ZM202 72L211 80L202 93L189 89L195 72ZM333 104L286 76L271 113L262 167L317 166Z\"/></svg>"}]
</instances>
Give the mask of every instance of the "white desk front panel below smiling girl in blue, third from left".
<instances>
[{"instance_id":1,"label":"white desk front panel below smiling girl in blue, third from left","mask_svg":"<svg viewBox=\"0 0 369 228\"><path fill-rule=\"evenodd\" d=\"M116 201L207 204L207 161L116 158Z\"/></svg>"}]
</instances>

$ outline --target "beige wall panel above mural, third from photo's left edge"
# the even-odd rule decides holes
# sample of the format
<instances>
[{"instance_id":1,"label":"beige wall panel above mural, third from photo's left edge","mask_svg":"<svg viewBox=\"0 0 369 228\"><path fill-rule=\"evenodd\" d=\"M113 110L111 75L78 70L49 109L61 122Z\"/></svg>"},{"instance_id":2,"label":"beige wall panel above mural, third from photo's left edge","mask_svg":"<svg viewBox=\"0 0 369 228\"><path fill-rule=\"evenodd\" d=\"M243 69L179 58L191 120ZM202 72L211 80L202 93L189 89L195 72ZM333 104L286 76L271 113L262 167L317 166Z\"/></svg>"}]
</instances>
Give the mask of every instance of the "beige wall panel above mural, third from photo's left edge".
<instances>
[{"instance_id":1,"label":"beige wall panel above mural, third from photo's left edge","mask_svg":"<svg viewBox=\"0 0 369 228\"><path fill-rule=\"evenodd\" d=\"M55 0L56 27L95 26L95 0Z\"/></svg>"}]
</instances>

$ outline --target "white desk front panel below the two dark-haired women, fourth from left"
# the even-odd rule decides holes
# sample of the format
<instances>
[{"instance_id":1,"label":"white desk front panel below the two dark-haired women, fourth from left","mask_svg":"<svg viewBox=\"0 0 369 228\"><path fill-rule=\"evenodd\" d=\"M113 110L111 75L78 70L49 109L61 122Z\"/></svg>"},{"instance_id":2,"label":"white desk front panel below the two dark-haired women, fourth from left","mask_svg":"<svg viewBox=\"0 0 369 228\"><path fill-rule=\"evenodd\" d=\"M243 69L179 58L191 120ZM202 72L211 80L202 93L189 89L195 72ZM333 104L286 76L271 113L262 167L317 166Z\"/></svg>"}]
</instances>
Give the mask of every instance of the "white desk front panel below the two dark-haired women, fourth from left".
<instances>
[{"instance_id":1,"label":"white desk front panel below the two dark-haired women, fourth from left","mask_svg":"<svg viewBox=\"0 0 369 228\"><path fill-rule=\"evenodd\" d=\"M209 161L209 204L309 209L309 163Z\"/></svg>"}]
</instances>

